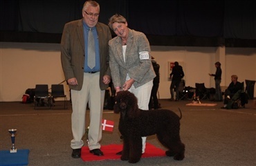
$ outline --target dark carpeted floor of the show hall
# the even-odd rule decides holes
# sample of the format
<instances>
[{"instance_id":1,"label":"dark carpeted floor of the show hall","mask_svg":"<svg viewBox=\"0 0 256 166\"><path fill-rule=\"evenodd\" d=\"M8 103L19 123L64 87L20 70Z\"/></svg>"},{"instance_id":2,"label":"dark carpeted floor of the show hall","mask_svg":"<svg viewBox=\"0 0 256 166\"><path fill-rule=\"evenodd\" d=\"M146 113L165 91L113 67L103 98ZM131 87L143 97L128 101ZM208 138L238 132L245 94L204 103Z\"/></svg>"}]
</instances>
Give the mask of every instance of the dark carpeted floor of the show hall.
<instances>
[{"instance_id":1,"label":"dark carpeted floor of the show hall","mask_svg":"<svg viewBox=\"0 0 256 166\"><path fill-rule=\"evenodd\" d=\"M163 109L179 115L180 108L183 113L181 140L186 145L185 158L182 161L170 157L142 158L135 165L256 165L255 100L249 100L246 108L235 110L220 109L221 102L215 107L186 106L191 102L188 100L160 102ZM17 149L30 149L29 165L131 165L122 160L84 162L71 158L70 104L66 110L62 109L61 102L57 102L54 109L34 110L33 104L0 102L0 109L0 149L10 149L8 129L16 128L15 145ZM121 144L119 115L105 110L103 118L116 123L113 133L103 132L102 145ZM155 136L148 137L147 141L163 148Z\"/></svg>"}]
</instances>

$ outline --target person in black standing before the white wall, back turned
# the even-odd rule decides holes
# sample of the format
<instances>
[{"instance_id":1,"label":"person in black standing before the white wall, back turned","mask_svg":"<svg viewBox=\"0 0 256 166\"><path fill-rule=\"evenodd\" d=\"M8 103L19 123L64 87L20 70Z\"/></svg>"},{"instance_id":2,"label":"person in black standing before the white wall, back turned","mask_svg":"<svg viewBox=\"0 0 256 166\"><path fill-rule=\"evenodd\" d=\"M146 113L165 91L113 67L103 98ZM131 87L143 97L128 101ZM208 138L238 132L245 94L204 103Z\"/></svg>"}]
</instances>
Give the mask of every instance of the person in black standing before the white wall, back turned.
<instances>
[{"instance_id":1,"label":"person in black standing before the white wall, back turned","mask_svg":"<svg viewBox=\"0 0 256 166\"><path fill-rule=\"evenodd\" d=\"M182 66L179 65L178 62L174 62L174 67L172 68L172 73L170 73L170 78L172 78L172 83L170 86L171 100L174 100L174 87L176 92L175 101L179 100L179 84L181 82L181 78L184 77L184 72Z\"/></svg>"}]
</instances>

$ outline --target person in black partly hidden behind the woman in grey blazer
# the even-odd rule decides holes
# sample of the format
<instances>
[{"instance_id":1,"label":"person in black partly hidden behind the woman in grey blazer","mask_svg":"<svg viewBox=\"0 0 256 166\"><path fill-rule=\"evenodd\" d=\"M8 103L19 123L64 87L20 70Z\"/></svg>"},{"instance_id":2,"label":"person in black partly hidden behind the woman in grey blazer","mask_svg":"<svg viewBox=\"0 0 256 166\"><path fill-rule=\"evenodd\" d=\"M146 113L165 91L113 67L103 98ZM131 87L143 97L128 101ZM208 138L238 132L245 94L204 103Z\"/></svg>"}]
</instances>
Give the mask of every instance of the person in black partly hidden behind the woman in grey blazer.
<instances>
[{"instance_id":1,"label":"person in black partly hidden behind the woman in grey blazer","mask_svg":"<svg viewBox=\"0 0 256 166\"><path fill-rule=\"evenodd\" d=\"M149 100L149 109L152 109L153 107L154 109L161 109L160 104L158 103L158 98L157 98L157 91L158 91L159 82L160 82L160 74L159 74L160 65L154 60L154 57L152 57L152 66L156 73L156 77L154 77L154 80L153 80L151 98Z\"/></svg>"}]
</instances>

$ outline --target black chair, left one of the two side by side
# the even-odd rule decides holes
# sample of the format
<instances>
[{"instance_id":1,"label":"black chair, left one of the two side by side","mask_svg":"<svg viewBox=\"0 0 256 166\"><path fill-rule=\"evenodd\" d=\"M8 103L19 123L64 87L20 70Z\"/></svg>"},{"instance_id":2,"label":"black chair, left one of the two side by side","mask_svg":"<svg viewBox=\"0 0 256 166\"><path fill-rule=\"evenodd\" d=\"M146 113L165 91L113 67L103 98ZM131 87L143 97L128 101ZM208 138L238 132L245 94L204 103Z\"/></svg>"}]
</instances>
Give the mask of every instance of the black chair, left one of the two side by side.
<instances>
[{"instance_id":1,"label":"black chair, left one of the two side by side","mask_svg":"<svg viewBox=\"0 0 256 166\"><path fill-rule=\"evenodd\" d=\"M36 107L48 107L51 109L51 96L48 92L48 84L36 84L35 85L35 96L34 96L34 109Z\"/></svg>"}]
</instances>

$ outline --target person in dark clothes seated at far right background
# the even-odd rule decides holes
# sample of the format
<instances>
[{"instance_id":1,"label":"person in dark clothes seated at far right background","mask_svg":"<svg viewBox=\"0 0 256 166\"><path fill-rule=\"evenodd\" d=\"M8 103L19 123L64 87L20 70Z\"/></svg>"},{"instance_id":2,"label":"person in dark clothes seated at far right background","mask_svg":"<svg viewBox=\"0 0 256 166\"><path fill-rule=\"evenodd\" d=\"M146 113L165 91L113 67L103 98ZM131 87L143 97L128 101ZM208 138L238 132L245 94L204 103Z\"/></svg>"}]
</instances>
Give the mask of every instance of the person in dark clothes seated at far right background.
<instances>
[{"instance_id":1,"label":"person in dark clothes seated at far right background","mask_svg":"<svg viewBox=\"0 0 256 166\"><path fill-rule=\"evenodd\" d=\"M224 98L224 106L221 107L222 109L226 109L228 106L228 102L232 97L237 93L237 91L242 90L243 84L237 81L237 75L231 75L231 83L228 86L228 89L225 90L225 98Z\"/></svg>"}]
</instances>

